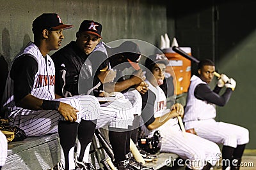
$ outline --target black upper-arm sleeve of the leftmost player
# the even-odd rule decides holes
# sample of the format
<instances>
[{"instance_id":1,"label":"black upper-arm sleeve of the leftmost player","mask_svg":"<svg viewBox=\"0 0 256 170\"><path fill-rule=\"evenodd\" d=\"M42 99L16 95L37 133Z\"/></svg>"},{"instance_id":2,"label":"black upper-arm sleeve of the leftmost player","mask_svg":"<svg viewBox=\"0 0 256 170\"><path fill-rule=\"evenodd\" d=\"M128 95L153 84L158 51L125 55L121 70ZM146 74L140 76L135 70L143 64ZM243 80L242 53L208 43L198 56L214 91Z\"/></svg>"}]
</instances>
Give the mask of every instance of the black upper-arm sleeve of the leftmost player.
<instances>
[{"instance_id":1,"label":"black upper-arm sleeve of the leftmost player","mask_svg":"<svg viewBox=\"0 0 256 170\"><path fill-rule=\"evenodd\" d=\"M31 94L37 72L37 61L29 54L24 54L15 59L10 71L10 76L14 81L13 97L15 103L19 103L23 97Z\"/></svg>"}]
</instances>

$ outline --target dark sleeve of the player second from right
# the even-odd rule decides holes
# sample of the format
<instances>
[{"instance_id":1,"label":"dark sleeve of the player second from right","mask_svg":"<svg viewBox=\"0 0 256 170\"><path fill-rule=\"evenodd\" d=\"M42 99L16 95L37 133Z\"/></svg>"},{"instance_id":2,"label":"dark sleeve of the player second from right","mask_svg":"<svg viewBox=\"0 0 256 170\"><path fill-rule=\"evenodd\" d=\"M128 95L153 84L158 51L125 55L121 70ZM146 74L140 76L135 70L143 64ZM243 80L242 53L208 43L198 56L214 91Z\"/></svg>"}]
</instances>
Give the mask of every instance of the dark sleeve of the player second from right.
<instances>
[{"instance_id":1,"label":"dark sleeve of the player second from right","mask_svg":"<svg viewBox=\"0 0 256 170\"><path fill-rule=\"evenodd\" d=\"M141 94L142 97L142 113L141 117L145 122L146 127L155 121L154 118L154 101L156 96L153 92L148 90L145 94Z\"/></svg>"}]
</instances>

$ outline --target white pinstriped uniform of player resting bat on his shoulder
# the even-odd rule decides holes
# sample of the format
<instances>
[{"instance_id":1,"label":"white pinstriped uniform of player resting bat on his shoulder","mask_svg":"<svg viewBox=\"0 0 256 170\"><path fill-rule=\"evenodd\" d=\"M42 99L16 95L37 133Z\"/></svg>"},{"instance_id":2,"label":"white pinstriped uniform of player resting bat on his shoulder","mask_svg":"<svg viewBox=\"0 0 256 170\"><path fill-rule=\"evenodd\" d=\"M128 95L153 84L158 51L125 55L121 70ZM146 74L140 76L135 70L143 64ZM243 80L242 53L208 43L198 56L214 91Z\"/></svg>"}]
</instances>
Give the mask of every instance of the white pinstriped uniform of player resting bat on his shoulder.
<instances>
[{"instance_id":1,"label":"white pinstriped uniform of player resting bat on his shoulder","mask_svg":"<svg viewBox=\"0 0 256 170\"><path fill-rule=\"evenodd\" d=\"M234 148L237 145L248 143L249 131L247 129L238 125L216 122L214 120L216 117L215 105L196 99L194 92L196 86L200 83L206 84L198 76L191 77L183 118L185 128L194 128L198 136Z\"/></svg>"}]
</instances>

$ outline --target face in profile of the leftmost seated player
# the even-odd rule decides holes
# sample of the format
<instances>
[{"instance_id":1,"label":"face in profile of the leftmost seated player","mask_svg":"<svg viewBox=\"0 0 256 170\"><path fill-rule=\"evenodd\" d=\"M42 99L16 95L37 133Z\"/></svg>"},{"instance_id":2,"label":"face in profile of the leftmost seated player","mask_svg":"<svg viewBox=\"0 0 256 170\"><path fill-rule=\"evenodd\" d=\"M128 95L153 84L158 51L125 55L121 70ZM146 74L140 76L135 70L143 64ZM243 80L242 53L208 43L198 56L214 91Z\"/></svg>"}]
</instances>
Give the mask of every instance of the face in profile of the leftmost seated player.
<instances>
[{"instance_id":1,"label":"face in profile of the leftmost seated player","mask_svg":"<svg viewBox=\"0 0 256 170\"><path fill-rule=\"evenodd\" d=\"M47 38L48 50L58 50L61 46L61 41L63 38L63 29L49 31L49 36Z\"/></svg>"}]
</instances>

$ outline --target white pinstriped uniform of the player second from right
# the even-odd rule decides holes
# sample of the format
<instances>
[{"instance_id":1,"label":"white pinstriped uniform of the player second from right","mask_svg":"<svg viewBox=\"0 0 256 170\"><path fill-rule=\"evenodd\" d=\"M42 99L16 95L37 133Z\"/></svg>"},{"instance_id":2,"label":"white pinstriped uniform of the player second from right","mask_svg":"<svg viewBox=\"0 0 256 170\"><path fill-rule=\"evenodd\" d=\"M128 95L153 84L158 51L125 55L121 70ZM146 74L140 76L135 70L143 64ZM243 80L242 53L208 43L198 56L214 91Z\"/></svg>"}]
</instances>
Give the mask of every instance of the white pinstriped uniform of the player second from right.
<instances>
[{"instance_id":1,"label":"white pinstriped uniform of the player second from right","mask_svg":"<svg viewBox=\"0 0 256 170\"><path fill-rule=\"evenodd\" d=\"M156 95L154 117L161 117L161 115L166 114L166 97L164 92L160 87L154 87L149 81L146 82L149 85L148 89ZM220 153L219 146L211 141L187 132L185 138L180 130L177 118L168 120L154 131L156 130L159 130L163 137L160 152L176 153L182 159L189 159L192 162L198 160L216 160L216 155ZM154 134L154 131L151 131L149 136ZM214 164L211 161L209 163ZM191 169L202 169L203 166L189 165Z\"/></svg>"}]
</instances>

